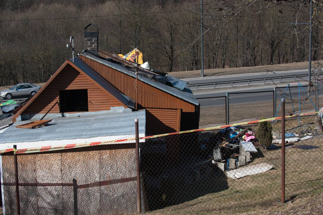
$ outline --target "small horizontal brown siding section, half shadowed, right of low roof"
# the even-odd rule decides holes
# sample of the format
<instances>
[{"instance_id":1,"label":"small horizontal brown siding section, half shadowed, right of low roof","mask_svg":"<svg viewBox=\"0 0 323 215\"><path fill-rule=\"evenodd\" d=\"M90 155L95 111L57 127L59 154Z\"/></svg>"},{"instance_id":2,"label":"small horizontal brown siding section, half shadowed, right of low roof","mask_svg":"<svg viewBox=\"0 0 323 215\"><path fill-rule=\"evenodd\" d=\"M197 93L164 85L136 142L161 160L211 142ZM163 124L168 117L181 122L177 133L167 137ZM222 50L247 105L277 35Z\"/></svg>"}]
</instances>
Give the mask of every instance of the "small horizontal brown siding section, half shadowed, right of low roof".
<instances>
[{"instance_id":1,"label":"small horizontal brown siding section, half shadowed, right of low roof","mask_svg":"<svg viewBox=\"0 0 323 215\"><path fill-rule=\"evenodd\" d=\"M180 131L181 109L146 109L146 134Z\"/></svg>"}]
</instances>

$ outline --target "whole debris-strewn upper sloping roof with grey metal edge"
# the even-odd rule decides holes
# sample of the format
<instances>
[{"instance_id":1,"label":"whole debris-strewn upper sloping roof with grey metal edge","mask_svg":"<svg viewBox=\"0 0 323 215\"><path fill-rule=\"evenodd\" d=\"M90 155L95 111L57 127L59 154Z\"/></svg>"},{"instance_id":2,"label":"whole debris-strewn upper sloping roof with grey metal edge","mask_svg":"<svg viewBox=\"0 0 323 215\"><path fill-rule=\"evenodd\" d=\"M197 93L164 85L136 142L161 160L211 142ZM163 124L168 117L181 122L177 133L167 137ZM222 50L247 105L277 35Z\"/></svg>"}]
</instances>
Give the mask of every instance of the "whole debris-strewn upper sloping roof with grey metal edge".
<instances>
[{"instance_id":1,"label":"whole debris-strewn upper sloping roof with grey metal edge","mask_svg":"<svg viewBox=\"0 0 323 215\"><path fill-rule=\"evenodd\" d=\"M83 50L79 54L136 78L136 74L133 69L132 63L125 59L121 59L117 55L109 54L108 52L97 52L89 50ZM182 100L185 100L195 105L199 105L199 102L196 100L187 83L185 83L184 81L172 77L164 72L147 70L141 67L137 68L138 70L140 70L140 72L137 73L138 79L140 81L145 82L146 84L149 84L164 92L172 94Z\"/></svg>"}]
</instances>

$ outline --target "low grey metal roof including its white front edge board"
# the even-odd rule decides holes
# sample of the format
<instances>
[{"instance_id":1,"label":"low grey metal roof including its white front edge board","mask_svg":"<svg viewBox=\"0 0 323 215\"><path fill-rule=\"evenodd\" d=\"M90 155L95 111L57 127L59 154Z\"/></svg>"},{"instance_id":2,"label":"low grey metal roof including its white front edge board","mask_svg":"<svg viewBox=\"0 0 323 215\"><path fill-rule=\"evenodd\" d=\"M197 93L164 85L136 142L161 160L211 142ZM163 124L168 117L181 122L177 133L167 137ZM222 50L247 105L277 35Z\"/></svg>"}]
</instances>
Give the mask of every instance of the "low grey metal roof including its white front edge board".
<instances>
[{"instance_id":1,"label":"low grey metal roof including its white front edge board","mask_svg":"<svg viewBox=\"0 0 323 215\"><path fill-rule=\"evenodd\" d=\"M41 116L40 114L39 117ZM50 117L50 114L47 117ZM139 134L144 136L145 110L123 113L110 111L75 113L68 117L52 118L52 121L44 127L16 128L16 125L37 120L35 116L31 120L17 121L1 133L0 149L12 148L16 143L20 143L17 144L17 148L22 149L65 144L68 140L75 144L130 138L127 135L135 134L135 118L139 121ZM99 137L98 140L96 137Z\"/></svg>"}]
</instances>

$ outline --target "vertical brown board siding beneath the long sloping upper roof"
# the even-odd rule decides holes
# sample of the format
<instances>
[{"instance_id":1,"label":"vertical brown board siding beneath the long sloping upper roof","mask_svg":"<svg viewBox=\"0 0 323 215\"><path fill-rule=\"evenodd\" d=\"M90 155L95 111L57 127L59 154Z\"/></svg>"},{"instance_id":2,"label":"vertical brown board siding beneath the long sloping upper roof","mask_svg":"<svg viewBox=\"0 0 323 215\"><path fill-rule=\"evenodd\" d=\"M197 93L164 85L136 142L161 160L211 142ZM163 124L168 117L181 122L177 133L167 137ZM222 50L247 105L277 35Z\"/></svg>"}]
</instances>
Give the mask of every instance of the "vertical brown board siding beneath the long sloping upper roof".
<instances>
[{"instance_id":1,"label":"vertical brown board siding beneath the long sloping upper roof","mask_svg":"<svg viewBox=\"0 0 323 215\"><path fill-rule=\"evenodd\" d=\"M103 78L108 80L118 90L136 99L136 89L134 86L135 79L122 72L114 70L108 66L100 64L94 60L79 56L90 67L96 70ZM161 108L161 109L181 109L181 126L180 130L190 130L198 128L197 117L199 109L194 104L186 102L169 93L161 91L142 81L138 81L138 109L144 108Z\"/></svg>"}]
</instances>

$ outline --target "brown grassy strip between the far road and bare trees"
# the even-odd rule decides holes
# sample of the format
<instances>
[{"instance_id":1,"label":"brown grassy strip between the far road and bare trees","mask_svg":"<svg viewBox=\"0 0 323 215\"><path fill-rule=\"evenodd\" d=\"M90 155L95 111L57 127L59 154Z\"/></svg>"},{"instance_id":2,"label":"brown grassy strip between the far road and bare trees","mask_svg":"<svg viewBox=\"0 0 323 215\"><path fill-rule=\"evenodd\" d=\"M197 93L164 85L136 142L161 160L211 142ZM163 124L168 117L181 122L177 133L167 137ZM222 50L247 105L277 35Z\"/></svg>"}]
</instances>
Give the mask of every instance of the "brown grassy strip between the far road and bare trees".
<instances>
[{"instance_id":1,"label":"brown grassy strip between the far road and bare trees","mask_svg":"<svg viewBox=\"0 0 323 215\"><path fill-rule=\"evenodd\" d=\"M312 62L313 69L317 66L318 66L317 62ZM256 73L256 72L273 72L273 71L302 70L302 69L308 69L308 61L298 62L298 63L255 66L255 67L209 69L209 70L204 70L204 75L206 77L209 77L209 76L220 76L220 75L235 75L235 74ZM198 77L201 77L201 70L171 72L170 75L176 78L198 78Z\"/></svg>"}]
</instances>

